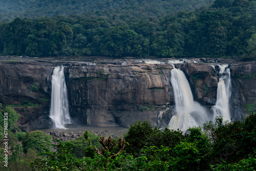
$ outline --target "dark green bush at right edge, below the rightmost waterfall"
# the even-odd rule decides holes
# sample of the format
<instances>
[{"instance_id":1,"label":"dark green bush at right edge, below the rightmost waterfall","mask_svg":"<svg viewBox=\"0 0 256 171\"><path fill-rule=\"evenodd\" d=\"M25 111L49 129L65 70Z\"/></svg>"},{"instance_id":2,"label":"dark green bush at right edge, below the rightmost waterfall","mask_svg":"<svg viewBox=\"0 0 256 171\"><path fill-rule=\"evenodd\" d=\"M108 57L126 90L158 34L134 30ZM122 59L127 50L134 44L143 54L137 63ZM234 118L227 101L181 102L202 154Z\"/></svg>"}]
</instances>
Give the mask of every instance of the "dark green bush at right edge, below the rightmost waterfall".
<instances>
[{"instance_id":1,"label":"dark green bush at right edge, below the rightmost waterfall","mask_svg":"<svg viewBox=\"0 0 256 171\"><path fill-rule=\"evenodd\" d=\"M256 114L251 114L239 121L222 123L209 122L203 129L212 140L211 164L232 163L256 155Z\"/></svg>"}]
</instances>

